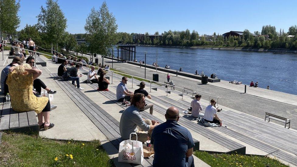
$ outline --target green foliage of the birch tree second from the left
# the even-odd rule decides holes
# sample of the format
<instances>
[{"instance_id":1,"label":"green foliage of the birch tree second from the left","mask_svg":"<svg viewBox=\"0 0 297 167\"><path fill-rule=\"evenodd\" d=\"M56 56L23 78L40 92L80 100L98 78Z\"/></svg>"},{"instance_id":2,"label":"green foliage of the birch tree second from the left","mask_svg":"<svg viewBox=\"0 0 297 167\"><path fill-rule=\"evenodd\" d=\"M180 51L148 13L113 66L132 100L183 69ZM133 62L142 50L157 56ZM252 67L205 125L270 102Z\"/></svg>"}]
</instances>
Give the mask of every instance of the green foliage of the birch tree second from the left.
<instances>
[{"instance_id":1,"label":"green foliage of the birch tree second from the left","mask_svg":"<svg viewBox=\"0 0 297 167\"><path fill-rule=\"evenodd\" d=\"M43 40L47 41L47 43L63 41L67 27L67 19L58 1L47 0L46 7L41 6L41 12L37 18L37 26L40 32L44 34Z\"/></svg>"}]
</instances>

